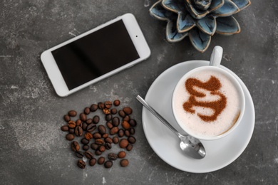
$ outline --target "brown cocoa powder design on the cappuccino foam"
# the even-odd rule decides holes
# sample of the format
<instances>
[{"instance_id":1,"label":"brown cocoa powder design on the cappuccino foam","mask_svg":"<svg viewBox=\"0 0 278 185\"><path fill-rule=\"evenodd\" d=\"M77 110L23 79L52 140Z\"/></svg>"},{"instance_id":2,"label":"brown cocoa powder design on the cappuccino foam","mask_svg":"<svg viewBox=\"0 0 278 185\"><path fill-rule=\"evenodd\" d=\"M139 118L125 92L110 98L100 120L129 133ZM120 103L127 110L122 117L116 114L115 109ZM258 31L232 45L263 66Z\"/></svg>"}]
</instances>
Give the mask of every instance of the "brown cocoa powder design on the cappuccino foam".
<instances>
[{"instance_id":1,"label":"brown cocoa powder design on the cappuccino foam","mask_svg":"<svg viewBox=\"0 0 278 185\"><path fill-rule=\"evenodd\" d=\"M194 86L209 90L211 95L219 95L220 99L212 102L197 101L196 97L205 97L205 93L198 92L194 89ZM220 83L220 80L215 78L215 76L211 76L210 80L207 80L207 82L205 83L202 83L197 78L188 78L185 82L185 88L188 93L190 93L190 97L187 102L183 104L183 109L194 114L195 110L192 109L193 106L211 108L212 110L214 110L213 115L208 116L202 115L200 113L197 113L197 115L205 122L215 121L217 119L217 116L220 115L222 110L224 110L227 105L227 97L225 97L225 95L218 91L221 87L222 85Z\"/></svg>"}]
</instances>

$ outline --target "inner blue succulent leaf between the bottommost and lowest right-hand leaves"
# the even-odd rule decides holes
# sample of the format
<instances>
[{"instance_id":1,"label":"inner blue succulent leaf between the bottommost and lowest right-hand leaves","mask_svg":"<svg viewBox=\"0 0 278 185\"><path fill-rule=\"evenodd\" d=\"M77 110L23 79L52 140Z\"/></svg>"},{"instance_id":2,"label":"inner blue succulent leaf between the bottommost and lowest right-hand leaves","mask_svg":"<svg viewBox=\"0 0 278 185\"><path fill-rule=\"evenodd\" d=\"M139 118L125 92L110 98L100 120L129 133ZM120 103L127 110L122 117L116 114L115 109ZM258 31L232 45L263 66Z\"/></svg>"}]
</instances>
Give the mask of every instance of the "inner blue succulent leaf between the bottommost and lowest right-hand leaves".
<instances>
[{"instance_id":1,"label":"inner blue succulent leaf between the bottommost and lowest right-hand leaves","mask_svg":"<svg viewBox=\"0 0 278 185\"><path fill-rule=\"evenodd\" d=\"M197 20L197 26L204 33L207 33L210 36L213 36L216 31L216 20L215 16L206 16L202 19Z\"/></svg>"}]
</instances>

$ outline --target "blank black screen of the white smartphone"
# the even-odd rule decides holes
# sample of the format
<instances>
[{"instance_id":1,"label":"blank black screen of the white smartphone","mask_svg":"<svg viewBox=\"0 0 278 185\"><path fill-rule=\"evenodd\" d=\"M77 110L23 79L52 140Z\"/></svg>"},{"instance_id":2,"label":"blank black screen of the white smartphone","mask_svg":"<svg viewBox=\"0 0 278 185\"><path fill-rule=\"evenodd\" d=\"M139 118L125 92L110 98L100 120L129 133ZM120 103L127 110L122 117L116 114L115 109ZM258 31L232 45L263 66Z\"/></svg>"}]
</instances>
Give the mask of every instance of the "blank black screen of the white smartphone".
<instances>
[{"instance_id":1,"label":"blank black screen of the white smartphone","mask_svg":"<svg viewBox=\"0 0 278 185\"><path fill-rule=\"evenodd\" d=\"M54 51L68 90L139 58L122 20Z\"/></svg>"}]
</instances>

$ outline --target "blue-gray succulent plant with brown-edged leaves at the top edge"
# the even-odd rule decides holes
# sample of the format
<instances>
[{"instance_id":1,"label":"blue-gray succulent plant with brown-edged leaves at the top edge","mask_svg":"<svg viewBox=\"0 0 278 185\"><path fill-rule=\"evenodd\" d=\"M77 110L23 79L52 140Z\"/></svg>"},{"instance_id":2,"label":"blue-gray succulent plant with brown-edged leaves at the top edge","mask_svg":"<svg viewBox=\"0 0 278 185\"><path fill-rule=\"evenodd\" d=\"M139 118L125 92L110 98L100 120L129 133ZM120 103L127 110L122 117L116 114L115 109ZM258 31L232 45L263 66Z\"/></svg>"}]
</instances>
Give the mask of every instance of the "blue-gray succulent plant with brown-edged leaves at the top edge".
<instances>
[{"instance_id":1,"label":"blue-gray succulent plant with brown-edged leaves at the top edge","mask_svg":"<svg viewBox=\"0 0 278 185\"><path fill-rule=\"evenodd\" d=\"M215 33L240 33L232 16L249 6L249 0L160 0L150 8L155 18L168 21L166 38L174 43L189 36L197 51L205 52Z\"/></svg>"}]
</instances>

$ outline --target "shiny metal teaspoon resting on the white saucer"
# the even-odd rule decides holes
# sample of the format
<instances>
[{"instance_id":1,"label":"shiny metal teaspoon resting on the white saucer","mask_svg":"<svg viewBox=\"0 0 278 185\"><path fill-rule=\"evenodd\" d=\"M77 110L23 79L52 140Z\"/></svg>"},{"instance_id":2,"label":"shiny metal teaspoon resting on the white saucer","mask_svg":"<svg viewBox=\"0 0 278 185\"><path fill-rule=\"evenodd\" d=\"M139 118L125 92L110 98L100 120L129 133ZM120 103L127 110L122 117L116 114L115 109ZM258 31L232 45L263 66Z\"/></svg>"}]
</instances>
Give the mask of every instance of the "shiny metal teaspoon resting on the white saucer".
<instances>
[{"instance_id":1,"label":"shiny metal teaspoon resting on the white saucer","mask_svg":"<svg viewBox=\"0 0 278 185\"><path fill-rule=\"evenodd\" d=\"M161 122L163 122L164 125L166 125L172 132L174 132L177 137L180 138L180 149L182 149L182 152L187 154L188 156L195 158L195 159L202 159L205 157L205 148L200 142L199 139L196 139L195 137L191 137L190 135L182 135L177 130L170 125L168 121L166 121L158 112L156 112L153 107L150 107L148 105L148 102L146 102L140 95L137 95L136 99L144 106L146 107L155 117L158 118Z\"/></svg>"}]
</instances>

